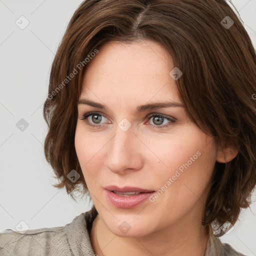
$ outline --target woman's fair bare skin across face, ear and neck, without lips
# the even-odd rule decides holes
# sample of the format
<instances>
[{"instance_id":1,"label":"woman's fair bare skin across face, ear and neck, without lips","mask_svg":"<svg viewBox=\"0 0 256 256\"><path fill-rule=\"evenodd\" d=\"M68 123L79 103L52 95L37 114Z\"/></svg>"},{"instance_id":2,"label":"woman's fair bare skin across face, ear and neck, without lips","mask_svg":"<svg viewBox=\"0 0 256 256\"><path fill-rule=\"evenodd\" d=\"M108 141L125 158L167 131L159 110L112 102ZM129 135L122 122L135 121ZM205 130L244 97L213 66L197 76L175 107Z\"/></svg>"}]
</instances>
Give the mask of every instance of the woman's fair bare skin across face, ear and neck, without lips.
<instances>
[{"instance_id":1,"label":"woman's fair bare skin across face, ear and neck, without lips","mask_svg":"<svg viewBox=\"0 0 256 256\"><path fill-rule=\"evenodd\" d=\"M213 166L215 161L230 161L237 152L221 149L188 118L184 107L136 112L138 105L155 101L182 104L169 75L173 68L169 53L151 40L104 44L86 67L80 99L109 108L78 104L75 132L76 154L99 213L90 231L99 256L205 254L208 236L201 222ZM95 114L81 120L90 111L103 115L99 123ZM175 122L147 118L149 114L162 114ZM126 131L118 126L123 118L131 124ZM153 127L165 124L169 125ZM157 191L198 151L200 156L154 202L122 209L108 201L104 186ZM131 227L126 233L118 228L123 221Z\"/></svg>"}]
</instances>

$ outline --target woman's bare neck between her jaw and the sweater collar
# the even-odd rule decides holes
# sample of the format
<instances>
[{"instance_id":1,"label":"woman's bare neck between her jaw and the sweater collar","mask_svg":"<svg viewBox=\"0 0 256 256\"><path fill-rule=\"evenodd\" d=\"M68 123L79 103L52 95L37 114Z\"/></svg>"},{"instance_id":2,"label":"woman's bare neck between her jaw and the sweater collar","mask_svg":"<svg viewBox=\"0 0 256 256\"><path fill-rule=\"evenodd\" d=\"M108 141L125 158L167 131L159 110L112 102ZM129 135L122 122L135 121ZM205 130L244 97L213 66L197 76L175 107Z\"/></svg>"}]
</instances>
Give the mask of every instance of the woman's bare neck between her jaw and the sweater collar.
<instances>
[{"instance_id":1,"label":"woman's bare neck between her jaw and the sweater collar","mask_svg":"<svg viewBox=\"0 0 256 256\"><path fill-rule=\"evenodd\" d=\"M122 237L112 233L97 215L92 223L90 240L98 256L204 256L208 235L200 222L181 221L144 236Z\"/></svg>"}]
</instances>

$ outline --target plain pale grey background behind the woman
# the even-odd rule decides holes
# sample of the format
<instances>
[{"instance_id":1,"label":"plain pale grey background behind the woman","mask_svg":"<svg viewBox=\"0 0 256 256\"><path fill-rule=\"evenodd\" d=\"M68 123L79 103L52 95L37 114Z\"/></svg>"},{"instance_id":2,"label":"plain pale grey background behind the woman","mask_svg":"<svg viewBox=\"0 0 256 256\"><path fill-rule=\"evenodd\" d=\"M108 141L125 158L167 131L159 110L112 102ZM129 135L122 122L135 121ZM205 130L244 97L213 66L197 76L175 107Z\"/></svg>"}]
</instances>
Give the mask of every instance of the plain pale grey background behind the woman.
<instances>
[{"instance_id":1,"label":"plain pale grey background behind the woman","mask_svg":"<svg viewBox=\"0 0 256 256\"><path fill-rule=\"evenodd\" d=\"M88 199L75 203L65 190L51 185L56 179L43 154L47 126L42 106L50 66L81 2L0 0L0 231L15 230L24 222L30 229L62 226L91 207ZM256 0L233 3L256 47ZM17 127L20 123L23 131ZM220 239L252 256L256 255L256 202L250 208Z\"/></svg>"}]
</instances>

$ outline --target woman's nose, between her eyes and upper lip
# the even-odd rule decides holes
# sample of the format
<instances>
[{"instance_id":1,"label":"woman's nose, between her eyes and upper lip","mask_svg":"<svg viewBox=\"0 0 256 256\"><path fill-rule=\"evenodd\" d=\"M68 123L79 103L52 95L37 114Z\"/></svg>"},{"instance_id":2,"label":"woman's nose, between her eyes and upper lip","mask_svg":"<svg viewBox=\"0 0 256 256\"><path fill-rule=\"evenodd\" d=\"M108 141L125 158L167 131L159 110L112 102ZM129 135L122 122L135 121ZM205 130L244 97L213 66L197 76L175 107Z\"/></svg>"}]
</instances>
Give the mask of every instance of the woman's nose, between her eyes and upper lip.
<instances>
[{"instance_id":1,"label":"woman's nose, between her eyes and upper lip","mask_svg":"<svg viewBox=\"0 0 256 256\"><path fill-rule=\"evenodd\" d=\"M116 125L115 134L107 143L107 156L104 165L115 173L125 173L127 169L139 170L143 158L139 148L143 149L142 142L133 133L132 126L123 131ZM125 171L126 170L126 171Z\"/></svg>"}]
</instances>

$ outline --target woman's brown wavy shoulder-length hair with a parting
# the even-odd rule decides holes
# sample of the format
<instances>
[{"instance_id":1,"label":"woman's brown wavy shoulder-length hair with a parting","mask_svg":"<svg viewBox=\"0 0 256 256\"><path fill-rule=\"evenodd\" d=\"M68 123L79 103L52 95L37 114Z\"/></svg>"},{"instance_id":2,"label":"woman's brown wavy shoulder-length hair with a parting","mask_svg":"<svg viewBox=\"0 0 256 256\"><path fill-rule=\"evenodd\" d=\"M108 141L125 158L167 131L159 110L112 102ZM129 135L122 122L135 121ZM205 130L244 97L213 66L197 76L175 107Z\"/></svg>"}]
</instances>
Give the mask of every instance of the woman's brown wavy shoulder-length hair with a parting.
<instances>
[{"instance_id":1,"label":"woman's brown wavy shoulder-length hair with a parting","mask_svg":"<svg viewBox=\"0 0 256 256\"><path fill-rule=\"evenodd\" d=\"M228 17L227 17L228 16ZM230 27L225 27L224 24ZM233 24L230 23L231 20ZM68 23L53 60L43 115L44 153L58 183L75 200L87 193L74 135L86 64L108 41L161 43L183 75L176 81L189 118L223 145L238 148L216 162L203 224L221 236L251 203L256 184L256 53L224 0L85 0ZM72 182L67 174L80 177ZM93 205L93 211L96 212Z\"/></svg>"}]
</instances>

